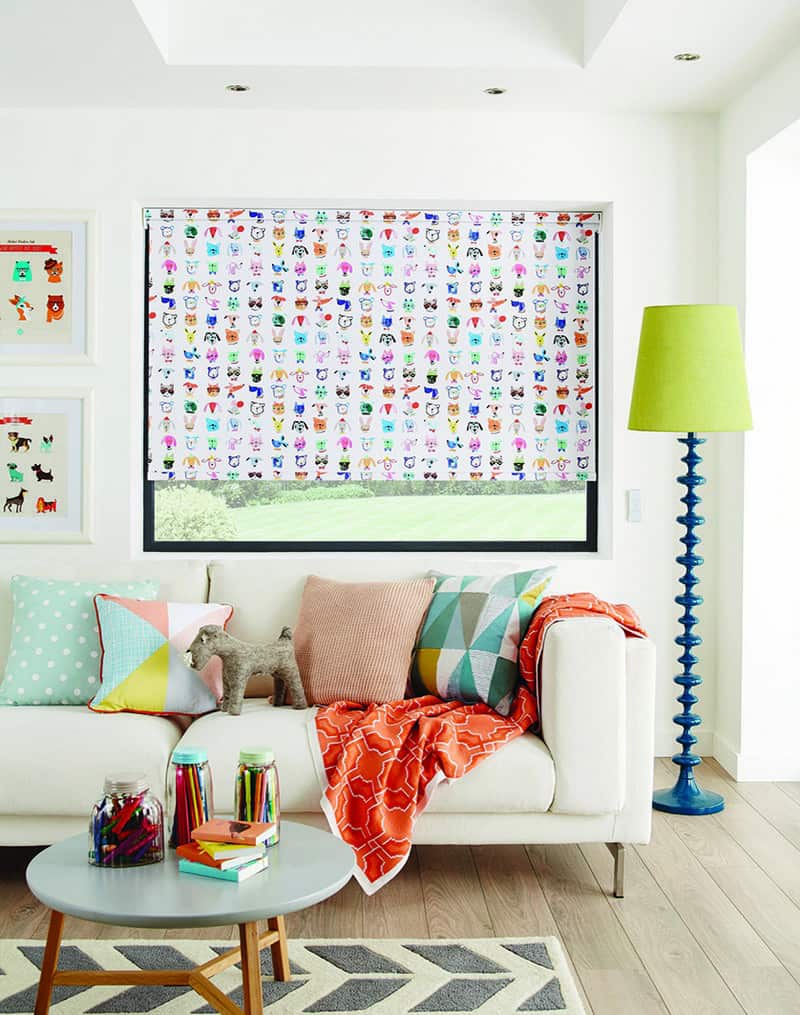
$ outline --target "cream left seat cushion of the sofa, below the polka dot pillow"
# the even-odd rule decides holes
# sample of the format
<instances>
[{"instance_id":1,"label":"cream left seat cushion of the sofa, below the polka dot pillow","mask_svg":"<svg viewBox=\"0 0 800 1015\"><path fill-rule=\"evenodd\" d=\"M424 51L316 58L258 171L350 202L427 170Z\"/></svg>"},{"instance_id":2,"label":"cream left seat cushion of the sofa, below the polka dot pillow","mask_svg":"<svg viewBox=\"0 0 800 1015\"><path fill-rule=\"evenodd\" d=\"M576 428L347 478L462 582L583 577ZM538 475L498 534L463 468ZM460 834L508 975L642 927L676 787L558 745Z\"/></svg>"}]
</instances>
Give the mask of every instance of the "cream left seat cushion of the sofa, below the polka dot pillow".
<instances>
[{"instance_id":1,"label":"cream left seat cushion of the sofa, below the polka dot pillow","mask_svg":"<svg viewBox=\"0 0 800 1015\"><path fill-rule=\"evenodd\" d=\"M181 738L169 719L88 708L0 708L0 814L85 815L107 772L142 772L161 802L166 766Z\"/></svg>"}]
</instances>

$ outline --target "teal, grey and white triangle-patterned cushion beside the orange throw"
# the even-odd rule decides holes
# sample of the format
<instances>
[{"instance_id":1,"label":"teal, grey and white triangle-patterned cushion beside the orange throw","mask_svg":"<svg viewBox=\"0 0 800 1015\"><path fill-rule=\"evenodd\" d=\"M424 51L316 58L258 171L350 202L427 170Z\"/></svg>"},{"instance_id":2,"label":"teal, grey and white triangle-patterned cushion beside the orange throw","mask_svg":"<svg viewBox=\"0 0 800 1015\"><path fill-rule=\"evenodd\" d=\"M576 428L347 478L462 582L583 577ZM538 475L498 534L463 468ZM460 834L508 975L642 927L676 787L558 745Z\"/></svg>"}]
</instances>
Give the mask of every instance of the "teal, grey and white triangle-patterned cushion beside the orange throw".
<instances>
[{"instance_id":1,"label":"teal, grey and white triangle-patterned cushion beside the orange throw","mask_svg":"<svg viewBox=\"0 0 800 1015\"><path fill-rule=\"evenodd\" d=\"M554 567L504 576L437 574L417 640L415 694L483 701L508 716L519 680L520 645Z\"/></svg>"}]
</instances>

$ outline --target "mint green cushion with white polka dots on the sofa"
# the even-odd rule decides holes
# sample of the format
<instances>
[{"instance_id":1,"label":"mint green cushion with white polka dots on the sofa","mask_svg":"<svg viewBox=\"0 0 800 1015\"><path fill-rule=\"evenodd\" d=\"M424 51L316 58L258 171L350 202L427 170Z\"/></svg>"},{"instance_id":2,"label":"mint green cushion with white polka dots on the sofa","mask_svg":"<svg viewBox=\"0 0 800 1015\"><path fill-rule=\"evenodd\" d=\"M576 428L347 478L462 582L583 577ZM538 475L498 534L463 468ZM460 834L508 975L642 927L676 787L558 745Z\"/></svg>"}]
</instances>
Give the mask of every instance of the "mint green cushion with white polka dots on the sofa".
<instances>
[{"instance_id":1,"label":"mint green cushion with white polka dots on the sofa","mask_svg":"<svg viewBox=\"0 0 800 1015\"><path fill-rule=\"evenodd\" d=\"M83 704L99 685L101 646L94 596L155 599L157 582L64 582L11 579L11 644L0 705Z\"/></svg>"}]
</instances>

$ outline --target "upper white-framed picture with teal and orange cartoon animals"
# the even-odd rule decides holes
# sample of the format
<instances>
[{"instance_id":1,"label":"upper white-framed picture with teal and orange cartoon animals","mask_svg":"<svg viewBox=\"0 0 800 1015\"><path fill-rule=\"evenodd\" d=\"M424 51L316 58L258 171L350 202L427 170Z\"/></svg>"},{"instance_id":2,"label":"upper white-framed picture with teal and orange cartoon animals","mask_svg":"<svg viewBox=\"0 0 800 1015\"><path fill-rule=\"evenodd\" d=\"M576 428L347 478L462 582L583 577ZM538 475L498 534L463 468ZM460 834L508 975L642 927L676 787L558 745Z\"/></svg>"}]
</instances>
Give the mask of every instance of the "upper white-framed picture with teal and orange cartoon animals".
<instances>
[{"instance_id":1,"label":"upper white-framed picture with teal and orange cartoon animals","mask_svg":"<svg viewBox=\"0 0 800 1015\"><path fill-rule=\"evenodd\" d=\"M0 362L94 357L90 212L0 211Z\"/></svg>"}]
</instances>

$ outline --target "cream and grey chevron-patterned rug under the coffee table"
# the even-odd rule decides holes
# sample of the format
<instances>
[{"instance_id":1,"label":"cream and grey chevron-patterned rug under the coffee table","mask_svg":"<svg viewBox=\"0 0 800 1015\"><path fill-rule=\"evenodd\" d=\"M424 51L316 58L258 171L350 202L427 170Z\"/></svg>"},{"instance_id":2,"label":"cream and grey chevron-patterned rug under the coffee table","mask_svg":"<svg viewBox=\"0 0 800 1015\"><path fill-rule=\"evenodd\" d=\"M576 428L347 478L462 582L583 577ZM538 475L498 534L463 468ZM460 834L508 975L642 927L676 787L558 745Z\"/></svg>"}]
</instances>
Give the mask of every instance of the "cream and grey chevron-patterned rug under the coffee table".
<instances>
[{"instance_id":1,"label":"cream and grey chevron-patterned rug under the coffee table","mask_svg":"<svg viewBox=\"0 0 800 1015\"><path fill-rule=\"evenodd\" d=\"M227 951L227 941L67 941L61 969L189 968ZM262 952L264 1007L269 1015L341 1012L550 1012L585 1015L555 938L470 938L463 941L289 940L291 979L272 978ZM34 1011L42 941L0 941L0 1013ZM242 1004L241 971L214 983ZM184 987L56 987L52 1015L193 1015L214 1012Z\"/></svg>"}]
</instances>

